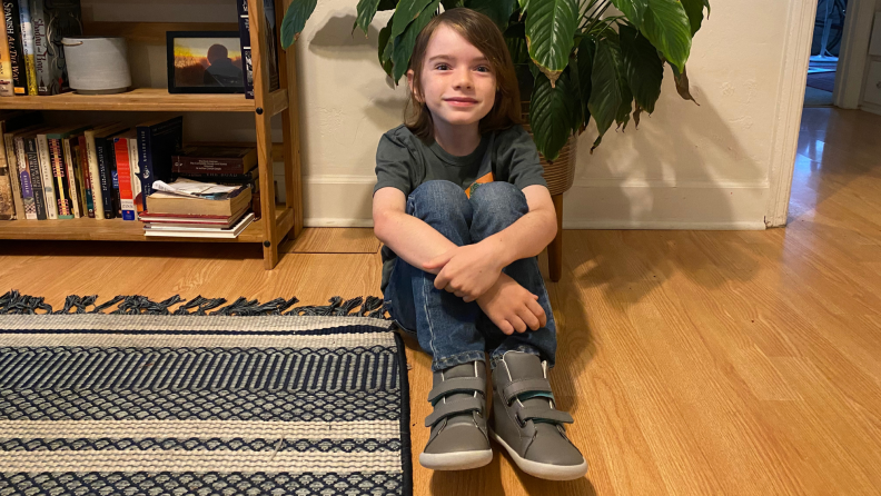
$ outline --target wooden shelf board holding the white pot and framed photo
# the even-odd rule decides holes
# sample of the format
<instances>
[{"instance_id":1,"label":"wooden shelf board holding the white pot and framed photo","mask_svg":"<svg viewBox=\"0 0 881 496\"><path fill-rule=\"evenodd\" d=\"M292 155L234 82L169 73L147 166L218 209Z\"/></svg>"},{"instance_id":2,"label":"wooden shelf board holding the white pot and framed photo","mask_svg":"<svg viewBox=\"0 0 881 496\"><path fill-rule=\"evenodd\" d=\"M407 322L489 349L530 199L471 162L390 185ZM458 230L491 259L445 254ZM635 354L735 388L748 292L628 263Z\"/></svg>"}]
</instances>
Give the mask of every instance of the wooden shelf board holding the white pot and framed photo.
<instances>
[{"instance_id":1,"label":"wooden shelf board holding the white pot and framed photo","mask_svg":"<svg viewBox=\"0 0 881 496\"><path fill-rule=\"evenodd\" d=\"M117 110L174 112L253 112L255 100L244 95L171 95L162 88L138 88L118 95L61 93L51 97L0 98L0 109L22 110ZM287 90L269 95L271 113L287 108Z\"/></svg>"}]
</instances>

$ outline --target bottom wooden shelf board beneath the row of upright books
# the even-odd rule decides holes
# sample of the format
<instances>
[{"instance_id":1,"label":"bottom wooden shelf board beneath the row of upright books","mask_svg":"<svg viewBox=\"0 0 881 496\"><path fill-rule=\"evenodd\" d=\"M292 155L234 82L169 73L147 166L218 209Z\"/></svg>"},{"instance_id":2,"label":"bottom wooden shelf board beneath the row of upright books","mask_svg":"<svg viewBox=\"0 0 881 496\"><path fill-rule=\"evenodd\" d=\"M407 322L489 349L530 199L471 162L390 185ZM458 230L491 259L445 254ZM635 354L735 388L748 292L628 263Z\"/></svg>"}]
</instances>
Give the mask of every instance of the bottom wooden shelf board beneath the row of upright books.
<instances>
[{"instance_id":1,"label":"bottom wooden shelf board beneath the row of upright books","mask_svg":"<svg viewBox=\"0 0 881 496\"><path fill-rule=\"evenodd\" d=\"M294 225L294 210L284 205L276 206L276 227L287 232ZM155 238L143 236L140 221L122 219L66 219L66 220L16 220L0 222L0 239L43 239L57 241L231 241L263 242L264 220L255 220L235 239L215 238Z\"/></svg>"}]
</instances>

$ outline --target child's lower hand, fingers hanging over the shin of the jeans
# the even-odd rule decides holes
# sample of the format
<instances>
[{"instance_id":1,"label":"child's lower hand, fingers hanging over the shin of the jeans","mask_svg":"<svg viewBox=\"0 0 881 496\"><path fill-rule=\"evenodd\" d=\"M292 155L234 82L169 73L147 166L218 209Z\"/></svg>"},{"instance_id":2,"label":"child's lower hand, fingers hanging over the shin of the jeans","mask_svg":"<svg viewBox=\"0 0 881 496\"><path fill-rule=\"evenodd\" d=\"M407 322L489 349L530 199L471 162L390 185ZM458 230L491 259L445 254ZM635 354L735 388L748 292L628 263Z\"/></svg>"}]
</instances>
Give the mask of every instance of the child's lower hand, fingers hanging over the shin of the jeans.
<instances>
[{"instance_id":1,"label":"child's lower hand, fingers hanging over the shin of the jeans","mask_svg":"<svg viewBox=\"0 0 881 496\"><path fill-rule=\"evenodd\" d=\"M515 330L525 333L527 327L537 330L547 325L547 316L538 305L538 297L507 274L498 276L496 284L477 298L477 305L507 335Z\"/></svg>"}]
</instances>

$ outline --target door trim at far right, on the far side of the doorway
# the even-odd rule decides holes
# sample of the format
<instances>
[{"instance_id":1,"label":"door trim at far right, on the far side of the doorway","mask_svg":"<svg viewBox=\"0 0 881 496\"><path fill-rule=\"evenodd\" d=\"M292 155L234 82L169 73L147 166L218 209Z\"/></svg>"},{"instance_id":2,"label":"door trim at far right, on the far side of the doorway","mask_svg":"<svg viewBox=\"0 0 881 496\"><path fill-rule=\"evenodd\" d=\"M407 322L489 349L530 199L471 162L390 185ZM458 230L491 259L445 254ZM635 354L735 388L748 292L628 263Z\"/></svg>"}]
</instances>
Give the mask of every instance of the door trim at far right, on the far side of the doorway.
<instances>
[{"instance_id":1,"label":"door trim at far right, on the far side of the doorway","mask_svg":"<svg viewBox=\"0 0 881 496\"><path fill-rule=\"evenodd\" d=\"M850 0L848 4L832 96L835 107L855 109L860 105L874 10L875 0Z\"/></svg>"}]
</instances>

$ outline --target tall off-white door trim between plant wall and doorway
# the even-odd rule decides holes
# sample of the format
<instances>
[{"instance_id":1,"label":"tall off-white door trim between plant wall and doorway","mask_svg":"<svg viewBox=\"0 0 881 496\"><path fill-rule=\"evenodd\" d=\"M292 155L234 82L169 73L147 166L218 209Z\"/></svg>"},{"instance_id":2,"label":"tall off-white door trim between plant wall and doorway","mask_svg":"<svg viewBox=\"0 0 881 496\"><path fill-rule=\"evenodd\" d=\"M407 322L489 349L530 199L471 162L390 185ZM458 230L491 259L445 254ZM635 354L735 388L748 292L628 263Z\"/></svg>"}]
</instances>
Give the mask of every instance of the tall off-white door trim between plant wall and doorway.
<instances>
[{"instance_id":1,"label":"tall off-white door trim between plant wall and doorway","mask_svg":"<svg viewBox=\"0 0 881 496\"><path fill-rule=\"evenodd\" d=\"M816 0L790 1L786 38L783 46L783 67L774 131L771 140L771 157L768 181L770 195L765 206L765 226L786 225L792 172L795 168L795 151L799 145L801 115L804 107L804 81L808 79L808 62L811 58Z\"/></svg>"}]
</instances>

